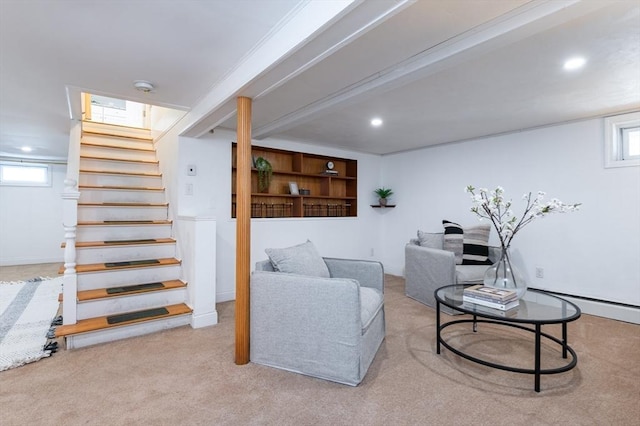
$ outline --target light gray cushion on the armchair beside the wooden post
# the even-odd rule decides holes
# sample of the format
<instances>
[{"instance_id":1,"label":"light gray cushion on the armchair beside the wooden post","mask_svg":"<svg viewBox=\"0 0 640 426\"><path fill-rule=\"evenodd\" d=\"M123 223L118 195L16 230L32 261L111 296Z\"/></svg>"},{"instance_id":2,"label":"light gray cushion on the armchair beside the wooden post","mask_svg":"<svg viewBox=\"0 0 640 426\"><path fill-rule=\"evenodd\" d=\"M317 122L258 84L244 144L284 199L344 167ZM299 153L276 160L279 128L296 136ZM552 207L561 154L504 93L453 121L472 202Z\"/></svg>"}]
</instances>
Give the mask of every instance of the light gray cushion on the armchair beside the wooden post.
<instances>
[{"instance_id":1,"label":"light gray cushion on the armchair beside the wooden post","mask_svg":"<svg viewBox=\"0 0 640 426\"><path fill-rule=\"evenodd\" d=\"M293 247L268 248L265 252L277 272L330 278L327 264L309 240Z\"/></svg>"}]
</instances>

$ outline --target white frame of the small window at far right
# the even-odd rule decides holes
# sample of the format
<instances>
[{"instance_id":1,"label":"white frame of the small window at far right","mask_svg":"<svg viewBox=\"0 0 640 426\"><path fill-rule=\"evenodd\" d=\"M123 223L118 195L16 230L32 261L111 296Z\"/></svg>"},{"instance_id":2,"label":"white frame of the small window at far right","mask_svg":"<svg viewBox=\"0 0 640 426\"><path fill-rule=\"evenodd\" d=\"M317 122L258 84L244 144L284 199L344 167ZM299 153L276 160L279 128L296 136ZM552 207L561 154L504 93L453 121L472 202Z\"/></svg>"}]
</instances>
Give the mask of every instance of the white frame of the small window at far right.
<instances>
[{"instance_id":1,"label":"white frame of the small window at far right","mask_svg":"<svg viewBox=\"0 0 640 426\"><path fill-rule=\"evenodd\" d=\"M640 166L640 157L625 159L625 144L623 133L625 129L640 127L640 112L630 112L627 114L614 115L604 119L604 166L611 167L633 167ZM626 145L626 146L625 146Z\"/></svg>"}]
</instances>

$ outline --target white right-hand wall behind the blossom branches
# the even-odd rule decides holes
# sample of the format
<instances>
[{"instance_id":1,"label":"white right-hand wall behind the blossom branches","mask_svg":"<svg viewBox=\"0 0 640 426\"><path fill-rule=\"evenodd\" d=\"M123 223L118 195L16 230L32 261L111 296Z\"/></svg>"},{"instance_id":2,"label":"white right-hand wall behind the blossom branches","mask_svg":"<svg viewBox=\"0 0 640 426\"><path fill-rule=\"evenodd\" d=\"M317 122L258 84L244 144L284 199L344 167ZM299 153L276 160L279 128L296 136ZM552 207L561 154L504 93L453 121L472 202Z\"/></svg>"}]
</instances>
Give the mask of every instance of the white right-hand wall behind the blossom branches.
<instances>
[{"instance_id":1,"label":"white right-hand wall behind the blossom branches","mask_svg":"<svg viewBox=\"0 0 640 426\"><path fill-rule=\"evenodd\" d=\"M442 219L477 223L466 185L503 186L516 214L525 192L543 190L583 205L516 235L512 249L529 285L640 305L640 168L605 169L603 132L603 119L593 119L383 157L382 177L397 202L381 226L387 270L402 272L417 229L440 232Z\"/></svg>"}]
</instances>

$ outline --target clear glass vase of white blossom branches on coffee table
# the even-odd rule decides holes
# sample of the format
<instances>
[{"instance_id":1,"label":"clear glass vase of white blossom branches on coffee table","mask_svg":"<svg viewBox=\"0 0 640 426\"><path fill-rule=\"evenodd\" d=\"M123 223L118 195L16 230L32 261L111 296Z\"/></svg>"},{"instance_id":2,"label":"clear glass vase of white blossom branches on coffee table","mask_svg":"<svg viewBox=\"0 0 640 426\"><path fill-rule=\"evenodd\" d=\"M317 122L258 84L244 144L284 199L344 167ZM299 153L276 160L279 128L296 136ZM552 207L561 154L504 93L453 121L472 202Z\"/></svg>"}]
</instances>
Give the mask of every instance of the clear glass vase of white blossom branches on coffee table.
<instances>
[{"instance_id":1,"label":"clear glass vase of white blossom branches on coffee table","mask_svg":"<svg viewBox=\"0 0 640 426\"><path fill-rule=\"evenodd\" d=\"M527 283L524 275L511 262L509 248L513 237L534 219L551 213L576 211L579 209L580 203L565 204L556 198L544 202L544 192L538 191L535 198L529 192L522 197L527 204L522 216L518 218L511 210L511 200L505 201L502 187L499 186L493 191L489 191L485 188L476 190L475 187L469 185L466 192L471 195L473 201L471 211L477 214L480 220L489 219L500 238L500 258L487 269L484 275L484 285L515 290L518 299L521 298L527 291Z\"/></svg>"}]
</instances>

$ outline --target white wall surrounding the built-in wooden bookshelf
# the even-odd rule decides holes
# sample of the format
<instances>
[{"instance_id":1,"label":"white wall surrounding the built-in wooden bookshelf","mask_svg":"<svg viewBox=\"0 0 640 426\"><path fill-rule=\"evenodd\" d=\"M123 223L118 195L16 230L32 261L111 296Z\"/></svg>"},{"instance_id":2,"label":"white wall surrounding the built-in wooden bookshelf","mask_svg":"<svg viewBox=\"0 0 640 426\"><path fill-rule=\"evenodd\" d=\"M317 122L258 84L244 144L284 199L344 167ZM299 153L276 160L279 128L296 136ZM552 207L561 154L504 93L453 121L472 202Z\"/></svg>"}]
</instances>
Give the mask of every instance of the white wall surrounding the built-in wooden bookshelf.
<instances>
[{"instance_id":1,"label":"white wall surrounding the built-in wooden bookshelf","mask_svg":"<svg viewBox=\"0 0 640 426\"><path fill-rule=\"evenodd\" d=\"M215 216L217 219L217 300L235 299L236 220L231 219L231 142L233 132L216 130L202 139L179 141L177 188L179 215ZM358 160L358 217L252 219L251 265L266 259L264 249L288 247L307 239L324 256L378 259L381 253L381 216L369 204L379 185L379 156L315 147L283 140L253 141L254 145L331 155ZM187 165L197 176L187 176ZM174 182L175 183L175 182ZM186 195L186 185L193 195ZM377 210L377 209L376 209ZM371 256L371 250L374 256Z\"/></svg>"}]
</instances>

